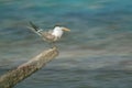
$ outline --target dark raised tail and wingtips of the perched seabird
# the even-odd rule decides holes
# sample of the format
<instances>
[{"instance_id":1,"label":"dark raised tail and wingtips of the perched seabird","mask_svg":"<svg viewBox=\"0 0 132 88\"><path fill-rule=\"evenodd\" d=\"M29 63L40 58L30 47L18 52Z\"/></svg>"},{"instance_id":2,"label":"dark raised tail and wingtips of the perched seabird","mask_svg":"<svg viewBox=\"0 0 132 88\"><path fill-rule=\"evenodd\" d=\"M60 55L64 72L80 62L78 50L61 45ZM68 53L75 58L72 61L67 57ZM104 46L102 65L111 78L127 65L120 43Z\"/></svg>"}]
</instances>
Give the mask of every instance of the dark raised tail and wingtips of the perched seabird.
<instances>
[{"instance_id":1,"label":"dark raised tail and wingtips of the perched seabird","mask_svg":"<svg viewBox=\"0 0 132 88\"><path fill-rule=\"evenodd\" d=\"M40 29L38 26L36 26L33 22L30 21L30 25L28 26L30 30L32 30L34 33L38 34L40 36L42 36L42 29Z\"/></svg>"}]
</instances>

